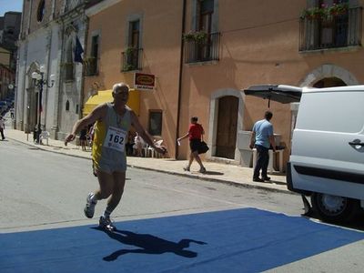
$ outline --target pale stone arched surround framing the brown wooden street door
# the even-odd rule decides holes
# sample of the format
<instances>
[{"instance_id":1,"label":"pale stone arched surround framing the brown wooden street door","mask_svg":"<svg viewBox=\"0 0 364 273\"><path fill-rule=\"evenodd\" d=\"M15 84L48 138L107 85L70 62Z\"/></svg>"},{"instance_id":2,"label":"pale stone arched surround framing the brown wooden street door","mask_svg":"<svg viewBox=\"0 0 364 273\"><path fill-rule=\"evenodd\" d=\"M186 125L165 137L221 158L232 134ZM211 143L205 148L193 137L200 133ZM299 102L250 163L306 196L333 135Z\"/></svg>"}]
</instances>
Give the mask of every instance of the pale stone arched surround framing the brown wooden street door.
<instances>
[{"instance_id":1,"label":"pale stone arched surround framing the brown wooden street door","mask_svg":"<svg viewBox=\"0 0 364 273\"><path fill-rule=\"evenodd\" d=\"M237 141L235 144L234 160L240 163L240 152L238 150L238 132L243 129L244 120L244 92L232 88L217 89L210 96L210 111L208 118L208 139L207 144L210 149L207 151L207 157L215 157L217 141L217 118L218 118L218 99L222 96L238 97L238 121L237 121ZM228 160L228 159L227 159Z\"/></svg>"}]
</instances>

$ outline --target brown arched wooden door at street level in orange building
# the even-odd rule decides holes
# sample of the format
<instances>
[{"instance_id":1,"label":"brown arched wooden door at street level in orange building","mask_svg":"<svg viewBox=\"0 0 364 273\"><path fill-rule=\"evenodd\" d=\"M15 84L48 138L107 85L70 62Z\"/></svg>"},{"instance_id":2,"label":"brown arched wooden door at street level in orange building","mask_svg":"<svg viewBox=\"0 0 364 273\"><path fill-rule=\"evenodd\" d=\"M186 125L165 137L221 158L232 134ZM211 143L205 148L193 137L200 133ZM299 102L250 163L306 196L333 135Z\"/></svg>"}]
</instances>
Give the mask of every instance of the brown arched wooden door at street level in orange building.
<instances>
[{"instance_id":1,"label":"brown arched wooden door at street level in orange building","mask_svg":"<svg viewBox=\"0 0 364 273\"><path fill-rule=\"evenodd\" d=\"M216 157L234 159L237 142L238 97L218 100Z\"/></svg>"}]
</instances>

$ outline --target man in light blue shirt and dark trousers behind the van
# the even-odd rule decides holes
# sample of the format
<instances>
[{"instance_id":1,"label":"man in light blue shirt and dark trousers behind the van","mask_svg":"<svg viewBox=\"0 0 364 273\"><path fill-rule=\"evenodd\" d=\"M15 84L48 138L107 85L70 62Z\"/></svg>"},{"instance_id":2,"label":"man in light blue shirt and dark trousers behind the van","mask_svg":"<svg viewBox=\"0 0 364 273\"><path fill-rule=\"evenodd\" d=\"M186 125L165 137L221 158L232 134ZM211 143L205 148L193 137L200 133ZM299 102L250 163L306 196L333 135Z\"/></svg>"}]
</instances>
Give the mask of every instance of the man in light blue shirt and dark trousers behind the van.
<instances>
[{"instance_id":1,"label":"man in light blue shirt and dark trousers behind the van","mask_svg":"<svg viewBox=\"0 0 364 273\"><path fill-rule=\"evenodd\" d=\"M258 153L258 159L256 167L254 168L253 181L264 182L269 181L270 177L267 176L268 162L269 162L269 147L276 150L276 144L273 135L273 126L270 123L270 119L273 114L267 111L264 114L264 119L259 120L253 126L253 134L250 138L250 148L256 147ZM259 172L261 170L261 178L259 178Z\"/></svg>"}]
</instances>

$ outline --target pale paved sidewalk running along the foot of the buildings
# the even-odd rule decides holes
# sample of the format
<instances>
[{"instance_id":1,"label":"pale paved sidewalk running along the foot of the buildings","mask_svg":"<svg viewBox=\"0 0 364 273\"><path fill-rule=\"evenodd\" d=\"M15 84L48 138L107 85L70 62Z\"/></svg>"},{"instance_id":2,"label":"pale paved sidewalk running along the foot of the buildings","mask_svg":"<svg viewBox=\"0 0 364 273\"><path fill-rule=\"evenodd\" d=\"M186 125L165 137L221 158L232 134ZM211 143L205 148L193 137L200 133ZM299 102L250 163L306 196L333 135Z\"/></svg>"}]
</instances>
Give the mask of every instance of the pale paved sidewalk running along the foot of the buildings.
<instances>
[{"instance_id":1,"label":"pale paved sidewalk running along the foot of the buildings","mask_svg":"<svg viewBox=\"0 0 364 273\"><path fill-rule=\"evenodd\" d=\"M76 147L75 142L69 143L65 146L63 141L49 138L48 145L46 145L45 140L44 145L35 145L33 142L33 134L29 134L27 136L23 131L9 128L5 129L5 137L49 152L60 153L72 157L91 158L91 151L83 151L81 147ZM193 177L242 187L258 187L289 193L286 186L286 176L284 174L270 174L269 177L271 177L271 181L269 182L253 182L253 169L249 167L240 167L225 163L204 162L207 173L200 174L198 172L198 165L196 162L192 164L191 172L186 172L183 170L183 167L187 166L187 160L151 157L127 157L127 165L128 167L155 170L178 176Z\"/></svg>"}]
</instances>

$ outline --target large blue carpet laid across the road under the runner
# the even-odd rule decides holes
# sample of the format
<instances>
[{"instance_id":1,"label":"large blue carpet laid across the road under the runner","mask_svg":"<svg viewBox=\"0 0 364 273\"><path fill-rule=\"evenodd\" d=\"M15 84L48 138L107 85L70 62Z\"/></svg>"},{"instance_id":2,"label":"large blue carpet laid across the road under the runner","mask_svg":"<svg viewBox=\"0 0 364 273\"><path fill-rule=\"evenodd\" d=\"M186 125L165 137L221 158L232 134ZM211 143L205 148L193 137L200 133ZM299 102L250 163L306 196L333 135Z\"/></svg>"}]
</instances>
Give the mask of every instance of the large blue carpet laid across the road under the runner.
<instances>
[{"instance_id":1,"label":"large blue carpet laid across the road under the runner","mask_svg":"<svg viewBox=\"0 0 364 273\"><path fill-rule=\"evenodd\" d=\"M258 272L364 238L256 208L0 234L5 272Z\"/></svg>"}]
</instances>

